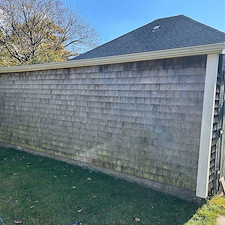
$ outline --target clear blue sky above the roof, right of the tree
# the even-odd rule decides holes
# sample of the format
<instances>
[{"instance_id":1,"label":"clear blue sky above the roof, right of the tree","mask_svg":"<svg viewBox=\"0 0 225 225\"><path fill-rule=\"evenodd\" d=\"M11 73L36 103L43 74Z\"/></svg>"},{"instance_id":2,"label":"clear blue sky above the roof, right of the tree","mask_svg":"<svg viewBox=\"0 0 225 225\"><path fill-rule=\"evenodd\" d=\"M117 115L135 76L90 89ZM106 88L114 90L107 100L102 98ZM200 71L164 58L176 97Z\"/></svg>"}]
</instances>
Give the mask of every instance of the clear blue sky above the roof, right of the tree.
<instances>
[{"instance_id":1,"label":"clear blue sky above the roof, right of the tree","mask_svg":"<svg viewBox=\"0 0 225 225\"><path fill-rule=\"evenodd\" d=\"M101 43L155 19L184 14L225 32L225 0L62 0L98 31Z\"/></svg>"}]
</instances>

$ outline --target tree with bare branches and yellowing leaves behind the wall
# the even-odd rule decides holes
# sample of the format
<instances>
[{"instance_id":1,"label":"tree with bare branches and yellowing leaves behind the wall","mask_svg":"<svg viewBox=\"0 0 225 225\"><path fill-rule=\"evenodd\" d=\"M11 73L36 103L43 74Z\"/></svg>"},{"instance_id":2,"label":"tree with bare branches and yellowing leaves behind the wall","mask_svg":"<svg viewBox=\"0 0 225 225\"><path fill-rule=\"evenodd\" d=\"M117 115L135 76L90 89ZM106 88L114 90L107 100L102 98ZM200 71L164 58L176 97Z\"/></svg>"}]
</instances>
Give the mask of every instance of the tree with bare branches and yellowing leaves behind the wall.
<instances>
[{"instance_id":1,"label":"tree with bare branches and yellowing leaves behind the wall","mask_svg":"<svg viewBox=\"0 0 225 225\"><path fill-rule=\"evenodd\" d=\"M65 61L96 40L59 0L0 0L0 66Z\"/></svg>"}]
</instances>

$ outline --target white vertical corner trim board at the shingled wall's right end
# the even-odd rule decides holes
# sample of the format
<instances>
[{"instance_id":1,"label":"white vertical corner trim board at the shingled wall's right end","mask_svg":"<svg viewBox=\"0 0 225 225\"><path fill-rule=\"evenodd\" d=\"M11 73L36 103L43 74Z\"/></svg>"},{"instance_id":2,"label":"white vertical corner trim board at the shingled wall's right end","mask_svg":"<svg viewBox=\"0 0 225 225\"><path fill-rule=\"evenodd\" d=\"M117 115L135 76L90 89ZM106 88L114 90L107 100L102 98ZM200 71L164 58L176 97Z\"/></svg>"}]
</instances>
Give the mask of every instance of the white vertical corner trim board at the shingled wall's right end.
<instances>
[{"instance_id":1,"label":"white vertical corner trim board at the shingled wall's right end","mask_svg":"<svg viewBox=\"0 0 225 225\"><path fill-rule=\"evenodd\" d=\"M218 54L207 55L196 188L196 196L200 198L206 198L208 196L209 166L212 144L212 129L218 62Z\"/></svg>"}]
</instances>

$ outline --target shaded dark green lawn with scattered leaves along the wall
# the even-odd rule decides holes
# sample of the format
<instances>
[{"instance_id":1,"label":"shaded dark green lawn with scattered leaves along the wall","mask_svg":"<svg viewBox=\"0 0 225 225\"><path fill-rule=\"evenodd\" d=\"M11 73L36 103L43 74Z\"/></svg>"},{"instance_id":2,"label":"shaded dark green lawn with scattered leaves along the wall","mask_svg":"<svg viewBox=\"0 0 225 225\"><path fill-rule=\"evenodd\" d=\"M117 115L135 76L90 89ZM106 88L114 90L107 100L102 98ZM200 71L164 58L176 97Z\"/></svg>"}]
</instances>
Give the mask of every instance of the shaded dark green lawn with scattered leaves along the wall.
<instances>
[{"instance_id":1,"label":"shaded dark green lawn with scattered leaves along the wall","mask_svg":"<svg viewBox=\"0 0 225 225\"><path fill-rule=\"evenodd\" d=\"M0 148L0 217L6 225L176 225L197 208L102 173Z\"/></svg>"}]
</instances>

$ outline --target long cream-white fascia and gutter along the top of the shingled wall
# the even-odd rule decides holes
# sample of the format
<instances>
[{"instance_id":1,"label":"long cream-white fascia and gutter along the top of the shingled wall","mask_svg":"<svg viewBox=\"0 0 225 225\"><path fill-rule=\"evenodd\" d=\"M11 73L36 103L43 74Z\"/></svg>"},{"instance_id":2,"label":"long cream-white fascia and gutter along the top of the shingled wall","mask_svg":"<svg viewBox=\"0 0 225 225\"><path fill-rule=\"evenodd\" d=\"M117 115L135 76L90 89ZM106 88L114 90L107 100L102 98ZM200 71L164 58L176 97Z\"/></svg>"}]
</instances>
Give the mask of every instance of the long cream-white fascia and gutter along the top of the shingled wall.
<instances>
[{"instance_id":1,"label":"long cream-white fascia and gutter along the top of the shingled wall","mask_svg":"<svg viewBox=\"0 0 225 225\"><path fill-rule=\"evenodd\" d=\"M75 68L75 67L83 67L83 66L97 66L97 65L106 65L106 64L154 60L154 59L162 59L162 58L174 58L174 57L191 56L191 55L206 55L206 54L213 54L213 53L221 54L223 50L224 50L224 43L217 43L217 44L192 46L192 47L185 47L185 48L174 48L174 49L166 49L166 50L151 51L151 52L108 56L108 57L101 57L101 58L71 60L66 62L2 67L0 68L0 73L28 72L28 71L38 71L38 70L50 70L50 69L66 69L66 68Z\"/></svg>"}]
</instances>

